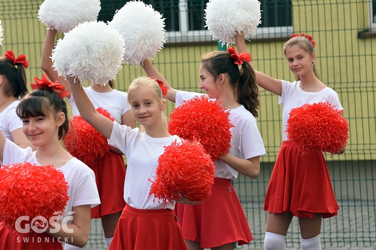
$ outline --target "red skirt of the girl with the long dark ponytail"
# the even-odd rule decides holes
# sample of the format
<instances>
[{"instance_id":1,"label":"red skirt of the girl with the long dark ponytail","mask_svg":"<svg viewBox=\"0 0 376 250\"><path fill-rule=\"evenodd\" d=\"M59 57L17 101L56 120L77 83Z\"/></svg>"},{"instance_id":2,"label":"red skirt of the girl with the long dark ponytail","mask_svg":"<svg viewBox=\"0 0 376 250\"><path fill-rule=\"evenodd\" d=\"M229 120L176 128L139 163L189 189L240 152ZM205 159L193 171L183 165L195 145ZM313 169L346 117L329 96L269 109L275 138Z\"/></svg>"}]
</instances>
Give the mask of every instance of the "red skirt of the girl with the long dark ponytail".
<instances>
[{"instance_id":1,"label":"red skirt of the girl with the long dark ponytail","mask_svg":"<svg viewBox=\"0 0 376 250\"><path fill-rule=\"evenodd\" d=\"M175 212L185 239L203 248L227 243L248 244L251 230L230 179L215 178L212 196L198 205L176 203Z\"/></svg>"}]
</instances>

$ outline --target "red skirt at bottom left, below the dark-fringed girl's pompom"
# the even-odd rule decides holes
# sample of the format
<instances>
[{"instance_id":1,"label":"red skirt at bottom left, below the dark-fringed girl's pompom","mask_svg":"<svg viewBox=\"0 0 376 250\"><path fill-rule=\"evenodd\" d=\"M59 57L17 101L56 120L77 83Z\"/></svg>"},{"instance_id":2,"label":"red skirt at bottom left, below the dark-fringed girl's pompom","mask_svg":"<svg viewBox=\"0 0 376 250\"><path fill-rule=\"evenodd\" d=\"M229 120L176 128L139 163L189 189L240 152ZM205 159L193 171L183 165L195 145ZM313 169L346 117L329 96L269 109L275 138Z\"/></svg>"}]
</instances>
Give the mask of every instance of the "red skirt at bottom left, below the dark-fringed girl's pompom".
<instances>
[{"instance_id":1,"label":"red skirt at bottom left, below the dark-fringed girl's pompom","mask_svg":"<svg viewBox=\"0 0 376 250\"><path fill-rule=\"evenodd\" d=\"M63 250L62 239L47 233L20 233L0 222L0 250Z\"/></svg>"}]
</instances>

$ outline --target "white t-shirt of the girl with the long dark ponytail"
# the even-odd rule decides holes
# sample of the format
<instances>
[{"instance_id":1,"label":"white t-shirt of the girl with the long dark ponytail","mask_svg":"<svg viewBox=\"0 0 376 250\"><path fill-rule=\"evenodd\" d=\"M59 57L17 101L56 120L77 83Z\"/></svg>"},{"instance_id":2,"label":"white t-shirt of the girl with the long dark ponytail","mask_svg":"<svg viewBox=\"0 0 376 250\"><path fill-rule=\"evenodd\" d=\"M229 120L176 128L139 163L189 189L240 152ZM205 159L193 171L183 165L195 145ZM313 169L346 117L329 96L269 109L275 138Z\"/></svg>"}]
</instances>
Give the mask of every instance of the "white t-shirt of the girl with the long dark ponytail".
<instances>
[{"instance_id":1,"label":"white t-shirt of the girl with the long dark ponytail","mask_svg":"<svg viewBox=\"0 0 376 250\"><path fill-rule=\"evenodd\" d=\"M195 98L198 95L204 95L197 92L176 91L175 107L178 107L183 100ZM264 142L257 127L257 121L253 114L243 105L237 108L229 109L230 122L234 127L230 128L231 142L229 153L243 159L249 159L255 156L266 154ZM216 177L236 179L239 172L223 162L215 161Z\"/></svg>"}]
</instances>

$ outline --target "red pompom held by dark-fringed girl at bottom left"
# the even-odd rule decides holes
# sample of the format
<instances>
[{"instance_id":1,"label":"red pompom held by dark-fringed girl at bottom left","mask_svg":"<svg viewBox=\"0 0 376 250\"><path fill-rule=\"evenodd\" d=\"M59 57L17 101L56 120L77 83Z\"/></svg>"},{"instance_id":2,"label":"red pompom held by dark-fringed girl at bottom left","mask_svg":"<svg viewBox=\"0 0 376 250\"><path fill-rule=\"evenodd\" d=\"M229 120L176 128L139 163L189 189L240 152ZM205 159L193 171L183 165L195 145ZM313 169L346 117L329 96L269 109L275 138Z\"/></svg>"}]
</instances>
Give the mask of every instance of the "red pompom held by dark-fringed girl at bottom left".
<instances>
[{"instance_id":1,"label":"red pompom held by dark-fringed girl at bottom left","mask_svg":"<svg viewBox=\"0 0 376 250\"><path fill-rule=\"evenodd\" d=\"M36 216L49 220L55 212L63 212L68 200L64 174L51 165L23 162L0 169L0 221L11 229L20 216L30 216L22 228Z\"/></svg>"}]
</instances>

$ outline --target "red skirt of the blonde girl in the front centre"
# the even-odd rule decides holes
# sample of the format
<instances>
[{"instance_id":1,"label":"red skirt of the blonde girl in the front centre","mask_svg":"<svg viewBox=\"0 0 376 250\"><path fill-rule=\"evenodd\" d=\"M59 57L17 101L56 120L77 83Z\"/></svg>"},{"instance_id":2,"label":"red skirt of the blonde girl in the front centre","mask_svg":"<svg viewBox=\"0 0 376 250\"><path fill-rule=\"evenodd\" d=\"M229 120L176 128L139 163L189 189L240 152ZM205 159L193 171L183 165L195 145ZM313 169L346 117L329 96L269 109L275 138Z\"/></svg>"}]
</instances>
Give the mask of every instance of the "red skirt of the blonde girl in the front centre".
<instances>
[{"instance_id":1,"label":"red skirt of the blonde girl in the front centre","mask_svg":"<svg viewBox=\"0 0 376 250\"><path fill-rule=\"evenodd\" d=\"M109 250L187 250L174 212L170 209L124 207Z\"/></svg>"}]
</instances>

